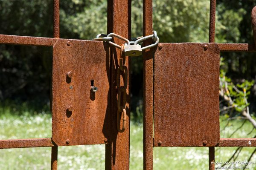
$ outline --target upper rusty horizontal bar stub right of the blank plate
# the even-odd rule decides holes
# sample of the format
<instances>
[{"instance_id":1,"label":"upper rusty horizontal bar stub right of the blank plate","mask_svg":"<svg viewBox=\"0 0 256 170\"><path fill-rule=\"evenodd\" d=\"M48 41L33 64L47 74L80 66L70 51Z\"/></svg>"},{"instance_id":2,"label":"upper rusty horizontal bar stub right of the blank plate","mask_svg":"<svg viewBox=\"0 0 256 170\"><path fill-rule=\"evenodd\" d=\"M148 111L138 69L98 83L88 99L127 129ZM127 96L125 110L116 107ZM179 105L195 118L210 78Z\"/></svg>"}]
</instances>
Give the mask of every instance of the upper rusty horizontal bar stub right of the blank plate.
<instances>
[{"instance_id":1,"label":"upper rusty horizontal bar stub right of the blank plate","mask_svg":"<svg viewBox=\"0 0 256 170\"><path fill-rule=\"evenodd\" d=\"M247 43L218 43L221 52L256 52L253 44Z\"/></svg>"}]
</instances>

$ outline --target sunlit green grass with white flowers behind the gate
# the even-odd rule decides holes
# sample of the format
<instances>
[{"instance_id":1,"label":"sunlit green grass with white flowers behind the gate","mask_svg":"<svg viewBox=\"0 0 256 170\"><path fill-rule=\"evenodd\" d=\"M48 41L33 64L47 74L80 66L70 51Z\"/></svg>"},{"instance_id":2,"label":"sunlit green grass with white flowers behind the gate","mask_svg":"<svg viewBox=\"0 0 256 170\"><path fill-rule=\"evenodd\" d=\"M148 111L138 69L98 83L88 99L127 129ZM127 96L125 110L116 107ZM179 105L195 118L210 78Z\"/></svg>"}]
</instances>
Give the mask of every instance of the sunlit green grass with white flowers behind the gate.
<instances>
[{"instance_id":1,"label":"sunlit green grass with white flowers behind the gate","mask_svg":"<svg viewBox=\"0 0 256 170\"><path fill-rule=\"evenodd\" d=\"M221 127L227 121L221 117ZM221 137L229 137L243 120L230 121ZM256 134L250 123L245 123L233 137L251 137ZM10 110L0 110L0 139L47 138L51 137L51 115L29 112L11 115ZM143 170L143 125L131 122L130 169ZM216 148L215 160L227 161L236 147ZM237 160L247 159L254 148L244 148ZM20 148L0 150L0 170L49 170L51 149ZM256 155L251 161L256 161ZM59 170L103 170L105 166L105 145L58 147ZM207 170L208 148L203 147L161 147L154 148L154 170ZM256 165L250 165L255 170Z\"/></svg>"}]
</instances>

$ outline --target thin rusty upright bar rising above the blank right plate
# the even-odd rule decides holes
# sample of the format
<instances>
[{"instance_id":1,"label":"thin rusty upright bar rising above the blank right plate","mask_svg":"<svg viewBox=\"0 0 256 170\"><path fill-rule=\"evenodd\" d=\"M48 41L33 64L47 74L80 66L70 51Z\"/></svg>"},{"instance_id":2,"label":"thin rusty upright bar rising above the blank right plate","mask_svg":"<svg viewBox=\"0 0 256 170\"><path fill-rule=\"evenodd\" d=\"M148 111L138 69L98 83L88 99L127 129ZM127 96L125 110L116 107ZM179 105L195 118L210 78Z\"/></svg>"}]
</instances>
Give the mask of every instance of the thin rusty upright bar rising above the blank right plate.
<instances>
[{"instance_id":1,"label":"thin rusty upright bar rising above the blank right plate","mask_svg":"<svg viewBox=\"0 0 256 170\"><path fill-rule=\"evenodd\" d=\"M210 0L209 43L215 42L216 0Z\"/></svg>"}]
</instances>

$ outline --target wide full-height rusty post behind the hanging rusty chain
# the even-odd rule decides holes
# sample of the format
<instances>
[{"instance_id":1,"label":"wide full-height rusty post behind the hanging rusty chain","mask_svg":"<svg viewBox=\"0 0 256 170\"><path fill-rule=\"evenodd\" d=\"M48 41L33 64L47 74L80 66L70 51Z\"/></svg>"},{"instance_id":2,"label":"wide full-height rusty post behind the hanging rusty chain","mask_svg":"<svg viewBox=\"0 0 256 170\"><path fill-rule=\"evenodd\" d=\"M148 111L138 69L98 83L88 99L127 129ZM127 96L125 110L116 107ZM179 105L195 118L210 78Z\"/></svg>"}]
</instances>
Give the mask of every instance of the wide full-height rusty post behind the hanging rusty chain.
<instances>
[{"instance_id":1,"label":"wide full-height rusty post behind the hanging rusty chain","mask_svg":"<svg viewBox=\"0 0 256 170\"><path fill-rule=\"evenodd\" d=\"M108 0L108 33L116 33L131 39L131 0ZM116 44L124 43L114 38ZM126 129L118 133L117 122L117 91L116 70L119 65L120 50L110 46L111 52L111 140L106 144L105 169L128 170L130 156L130 60L126 57L125 65L128 68L128 88L126 104ZM121 82L122 84L123 82ZM120 121L120 120L119 120ZM122 122L122 121L121 121Z\"/></svg>"}]
</instances>

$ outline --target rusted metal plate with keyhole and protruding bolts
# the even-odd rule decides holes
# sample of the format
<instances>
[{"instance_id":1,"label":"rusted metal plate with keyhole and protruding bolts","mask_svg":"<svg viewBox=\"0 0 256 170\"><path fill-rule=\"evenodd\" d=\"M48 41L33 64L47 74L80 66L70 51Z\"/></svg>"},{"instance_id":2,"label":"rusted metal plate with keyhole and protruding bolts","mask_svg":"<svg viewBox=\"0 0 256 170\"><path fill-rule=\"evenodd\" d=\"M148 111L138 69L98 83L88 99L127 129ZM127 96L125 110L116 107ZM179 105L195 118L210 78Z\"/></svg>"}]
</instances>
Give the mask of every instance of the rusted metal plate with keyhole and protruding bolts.
<instances>
[{"instance_id":1,"label":"rusted metal plate with keyhole and protruding bolts","mask_svg":"<svg viewBox=\"0 0 256 170\"><path fill-rule=\"evenodd\" d=\"M109 137L108 51L99 41L59 39L53 46L52 140L58 146L104 144Z\"/></svg>"}]
</instances>

